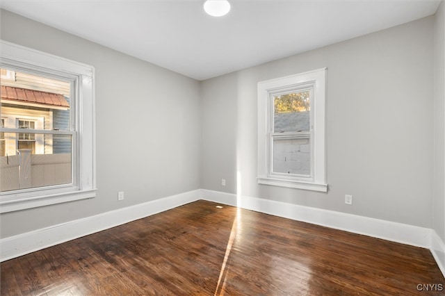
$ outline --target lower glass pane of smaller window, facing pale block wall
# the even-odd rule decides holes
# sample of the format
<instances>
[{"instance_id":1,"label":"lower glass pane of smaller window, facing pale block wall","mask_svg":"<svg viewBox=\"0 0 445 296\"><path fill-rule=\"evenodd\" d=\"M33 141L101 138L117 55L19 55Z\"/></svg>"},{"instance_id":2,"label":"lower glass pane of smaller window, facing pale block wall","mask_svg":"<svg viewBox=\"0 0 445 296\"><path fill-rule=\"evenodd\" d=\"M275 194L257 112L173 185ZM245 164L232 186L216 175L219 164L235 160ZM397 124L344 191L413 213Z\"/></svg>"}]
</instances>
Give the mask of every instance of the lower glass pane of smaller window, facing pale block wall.
<instances>
[{"instance_id":1,"label":"lower glass pane of smaller window, facing pale block wall","mask_svg":"<svg viewBox=\"0 0 445 296\"><path fill-rule=\"evenodd\" d=\"M273 172L310 176L309 138L273 138Z\"/></svg>"}]
</instances>

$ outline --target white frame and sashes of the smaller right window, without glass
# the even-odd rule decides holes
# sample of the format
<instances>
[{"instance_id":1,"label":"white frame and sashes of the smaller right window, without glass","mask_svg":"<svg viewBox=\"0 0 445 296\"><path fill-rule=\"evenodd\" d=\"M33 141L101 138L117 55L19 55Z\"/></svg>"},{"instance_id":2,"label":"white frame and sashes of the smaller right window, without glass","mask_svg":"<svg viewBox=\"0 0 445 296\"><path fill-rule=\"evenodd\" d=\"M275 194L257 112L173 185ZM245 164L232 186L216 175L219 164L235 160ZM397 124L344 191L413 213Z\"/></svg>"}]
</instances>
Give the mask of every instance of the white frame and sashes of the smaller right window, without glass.
<instances>
[{"instance_id":1,"label":"white frame and sashes of the smaller right window, without glass","mask_svg":"<svg viewBox=\"0 0 445 296\"><path fill-rule=\"evenodd\" d=\"M259 184L327 192L325 153L325 81L327 68L258 83ZM311 174L298 176L273 172L273 97L312 88L310 108ZM291 135L292 136L292 135Z\"/></svg>"}]
</instances>

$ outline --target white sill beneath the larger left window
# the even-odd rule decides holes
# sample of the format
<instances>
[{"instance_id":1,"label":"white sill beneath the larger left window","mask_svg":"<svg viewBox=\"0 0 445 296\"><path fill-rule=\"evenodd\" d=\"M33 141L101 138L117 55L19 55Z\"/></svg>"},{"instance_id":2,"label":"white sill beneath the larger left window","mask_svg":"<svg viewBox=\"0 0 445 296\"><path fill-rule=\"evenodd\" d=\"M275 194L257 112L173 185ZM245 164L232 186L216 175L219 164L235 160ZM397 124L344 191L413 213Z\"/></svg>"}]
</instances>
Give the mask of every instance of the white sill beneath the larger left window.
<instances>
[{"instance_id":1,"label":"white sill beneath the larger left window","mask_svg":"<svg viewBox=\"0 0 445 296\"><path fill-rule=\"evenodd\" d=\"M0 202L0 213L9 213L25 210L27 208L38 208L51 204L61 204L79 199L89 199L96 196L96 189L76 190L70 192L58 192L50 195L38 195L24 197L21 199L6 199Z\"/></svg>"}]
</instances>

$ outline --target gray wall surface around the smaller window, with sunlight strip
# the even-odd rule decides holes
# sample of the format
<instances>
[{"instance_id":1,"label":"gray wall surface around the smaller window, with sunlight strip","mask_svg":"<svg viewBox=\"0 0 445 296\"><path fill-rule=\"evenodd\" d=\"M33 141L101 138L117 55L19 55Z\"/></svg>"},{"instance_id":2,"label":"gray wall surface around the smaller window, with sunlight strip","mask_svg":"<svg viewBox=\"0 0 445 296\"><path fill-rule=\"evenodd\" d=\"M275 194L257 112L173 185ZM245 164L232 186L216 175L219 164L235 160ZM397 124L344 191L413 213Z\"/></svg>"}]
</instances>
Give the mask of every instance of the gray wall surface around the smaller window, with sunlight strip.
<instances>
[{"instance_id":1,"label":"gray wall surface around the smaller window, with sunlight strip","mask_svg":"<svg viewBox=\"0 0 445 296\"><path fill-rule=\"evenodd\" d=\"M203 81L202 187L432 227L434 21ZM257 83L321 67L329 192L257 184Z\"/></svg>"}]
</instances>

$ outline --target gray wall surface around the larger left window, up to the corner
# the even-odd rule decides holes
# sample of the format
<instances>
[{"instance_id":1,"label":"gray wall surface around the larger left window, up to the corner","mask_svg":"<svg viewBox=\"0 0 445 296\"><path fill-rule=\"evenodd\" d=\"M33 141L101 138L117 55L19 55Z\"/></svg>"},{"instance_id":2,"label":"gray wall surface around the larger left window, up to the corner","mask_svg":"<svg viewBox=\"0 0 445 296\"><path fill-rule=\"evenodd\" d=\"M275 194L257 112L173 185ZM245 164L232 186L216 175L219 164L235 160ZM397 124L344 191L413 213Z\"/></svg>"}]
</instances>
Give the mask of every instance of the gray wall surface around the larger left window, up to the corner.
<instances>
[{"instance_id":1,"label":"gray wall surface around the larger left window, up to the corner","mask_svg":"<svg viewBox=\"0 0 445 296\"><path fill-rule=\"evenodd\" d=\"M99 188L94 199L1 215L1 238L200 188L199 81L6 10L0 19L1 39L95 67Z\"/></svg>"}]
</instances>

